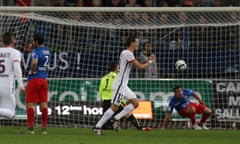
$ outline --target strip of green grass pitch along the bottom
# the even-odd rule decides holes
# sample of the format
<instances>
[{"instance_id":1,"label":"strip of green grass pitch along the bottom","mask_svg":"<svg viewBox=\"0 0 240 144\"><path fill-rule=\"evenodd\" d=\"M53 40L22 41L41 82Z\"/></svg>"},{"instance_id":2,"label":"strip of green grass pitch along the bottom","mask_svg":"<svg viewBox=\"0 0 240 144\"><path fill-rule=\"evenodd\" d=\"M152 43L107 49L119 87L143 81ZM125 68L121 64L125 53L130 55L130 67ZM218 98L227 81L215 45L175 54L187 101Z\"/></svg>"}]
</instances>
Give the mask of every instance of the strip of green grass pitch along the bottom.
<instances>
[{"instance_id":1,"label":"strip of green grass pitch along the bottom","mask_svg":"<svg viewBox=\"0 0 240 144\"><path fill-rule=\"evenodd\" d=\"M25 127L0 127L1 144L239 144L239 130L105 130L97 136L90 128L48 128L47 135L20 134Z\"/></svg>"}]
</instances>

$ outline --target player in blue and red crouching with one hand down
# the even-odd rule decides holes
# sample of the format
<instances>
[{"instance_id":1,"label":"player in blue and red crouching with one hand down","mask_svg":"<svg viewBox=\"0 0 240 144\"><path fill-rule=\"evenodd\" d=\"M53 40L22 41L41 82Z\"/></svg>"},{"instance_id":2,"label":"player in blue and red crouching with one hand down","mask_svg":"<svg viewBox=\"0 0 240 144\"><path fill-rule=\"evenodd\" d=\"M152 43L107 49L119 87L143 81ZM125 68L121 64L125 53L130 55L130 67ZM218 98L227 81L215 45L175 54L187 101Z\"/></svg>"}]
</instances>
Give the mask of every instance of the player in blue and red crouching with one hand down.
<instances>
[{"instance_id":1,"label":"player in blue and red crouching with one hand down","mask_svg":"<svg viewBox=\"0 0 240 144\"><path fill-rule=\"evenodd\" d=\"M173 108L177 110L179 115L183 117L189 117L191 120L192 128L196 130L208 129L205 125L205 121L212 113L211 109L206 107L203 101L200 99L199 95L190 89L183 89L182 86L176 85L173 88L174 96L170 99L167 113L163 121L162 130L167 129L168 122L171 117ZM190 96L194 96L199 103L193 103L190 101ZM197 124L196 114L202 114L202 118ZM201 127L200 127L201 126Z\"/></svg>"}]
</instances>

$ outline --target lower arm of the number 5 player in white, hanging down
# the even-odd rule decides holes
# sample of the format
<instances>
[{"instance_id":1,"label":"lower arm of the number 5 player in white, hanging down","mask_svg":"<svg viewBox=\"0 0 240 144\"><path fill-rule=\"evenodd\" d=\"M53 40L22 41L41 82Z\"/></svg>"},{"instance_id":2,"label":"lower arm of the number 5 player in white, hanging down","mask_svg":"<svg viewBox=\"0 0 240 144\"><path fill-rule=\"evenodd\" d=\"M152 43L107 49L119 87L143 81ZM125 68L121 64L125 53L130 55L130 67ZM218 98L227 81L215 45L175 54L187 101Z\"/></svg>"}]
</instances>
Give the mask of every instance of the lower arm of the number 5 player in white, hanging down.
<instances>
[{"instance_id":1,"label":"lower arm of the number 5 player in white, hanging down","mask_svg":"<svg viewBox=\"0 0 240 144\"><path fill-rule=\"evenodd\" d=\"M18 82L18 87L20 88L20 91L24 91L24 85L23 85L23 79L22 79L22 69L20 66L19 61L13 62L14 72L16 75L16 79Z\"/></svg>"}]
</instances>

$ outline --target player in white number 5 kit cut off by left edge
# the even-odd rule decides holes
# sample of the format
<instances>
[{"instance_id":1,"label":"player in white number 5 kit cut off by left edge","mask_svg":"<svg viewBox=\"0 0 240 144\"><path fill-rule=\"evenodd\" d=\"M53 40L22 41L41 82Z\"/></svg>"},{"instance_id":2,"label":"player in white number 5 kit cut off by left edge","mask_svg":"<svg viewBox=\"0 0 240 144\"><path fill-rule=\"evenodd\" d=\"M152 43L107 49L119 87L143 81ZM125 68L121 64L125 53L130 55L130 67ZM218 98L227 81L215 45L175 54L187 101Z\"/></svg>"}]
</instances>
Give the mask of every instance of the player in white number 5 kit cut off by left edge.
<instances>
[{"instance_id":1,"label":"player in white number 5 kit cut off by left edge","mask_svg":"<svg viewBox=\"0 0 240 144\"><path fill-rule=\"evenodd\" d=\"M14 49L14 37L6 32L2 35L0 48L0 117L15 117L15 77L20 91L24 91L22 70L20 66L21 53Z\"/></svg>"}]
</instances>

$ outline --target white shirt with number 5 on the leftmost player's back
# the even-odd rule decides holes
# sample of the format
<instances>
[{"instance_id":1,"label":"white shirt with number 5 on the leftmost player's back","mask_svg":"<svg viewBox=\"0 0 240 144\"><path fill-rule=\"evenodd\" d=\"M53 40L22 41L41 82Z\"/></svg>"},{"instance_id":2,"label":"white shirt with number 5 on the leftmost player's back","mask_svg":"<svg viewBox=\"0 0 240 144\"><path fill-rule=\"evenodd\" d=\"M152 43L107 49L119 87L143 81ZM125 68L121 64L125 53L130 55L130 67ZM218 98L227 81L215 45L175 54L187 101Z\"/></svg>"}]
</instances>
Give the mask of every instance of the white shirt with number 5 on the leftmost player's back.
<instances>
[{"instance_id":1,"label":"white shirt with number 5 on the leftmost player's back","mask_svg":"<svg viewBox=\"0 0 240 144\"><path fill-rule=\"evenodd\" d=\"M11 47L0 48L0 76L14 78L13 62L21 61L21 53Z\"/></svg>"}]
</instances>

